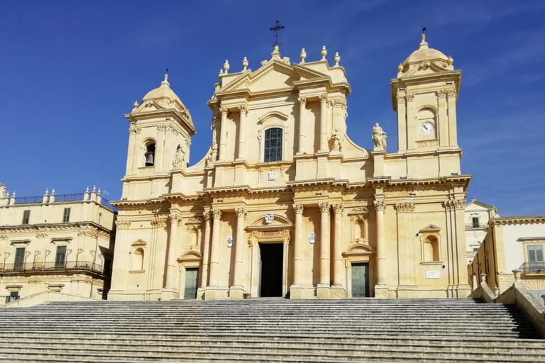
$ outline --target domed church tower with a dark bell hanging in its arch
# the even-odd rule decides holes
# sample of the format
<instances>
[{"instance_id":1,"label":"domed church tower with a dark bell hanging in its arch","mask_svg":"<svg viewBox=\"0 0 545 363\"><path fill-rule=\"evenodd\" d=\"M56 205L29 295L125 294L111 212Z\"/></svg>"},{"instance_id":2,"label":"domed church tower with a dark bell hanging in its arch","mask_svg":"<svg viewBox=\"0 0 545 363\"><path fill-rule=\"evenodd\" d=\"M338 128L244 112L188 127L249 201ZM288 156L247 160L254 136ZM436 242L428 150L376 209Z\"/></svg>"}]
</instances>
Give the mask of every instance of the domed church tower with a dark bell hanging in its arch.
<instances>
[{"instance_id":1,"label":"domed church tower with a dark bell hanging in its arch","mask_svg":"<svg viewBox=\"0 0 545 363\"><path fill-rule=\"evenodd\" d=\"M126 174L123 178L123 199L158 197L167 190L153 186L151 179L165 177L172 169L185 169L189 161L191 136L196 133L189 110L170 89L168 75L160 86L134 103L125 115L128 129ZM131 182L138 183L131 187ZM149 184L149 186L147 186ZM146 185L146 186L145 186Z\"/></svg>"}]
</instances>

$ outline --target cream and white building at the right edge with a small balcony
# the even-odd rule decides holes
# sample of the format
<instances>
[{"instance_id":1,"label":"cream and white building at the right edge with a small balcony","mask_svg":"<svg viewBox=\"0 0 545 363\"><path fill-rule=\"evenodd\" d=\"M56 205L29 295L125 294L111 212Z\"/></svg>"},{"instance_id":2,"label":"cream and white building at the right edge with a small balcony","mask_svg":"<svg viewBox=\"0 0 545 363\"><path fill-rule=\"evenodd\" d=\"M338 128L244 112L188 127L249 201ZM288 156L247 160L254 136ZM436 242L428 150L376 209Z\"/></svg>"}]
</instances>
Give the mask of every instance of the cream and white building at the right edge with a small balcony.
<instances>
[{"instance_id":1,"label":"cream and white building at the right edge with a small balcony","mask_svg":"<svg viewBox=\"0 0 545 363\"><path fill-rule=\"evenodd\" d=\"M491 218L482 245L469 265L468 274L477 283L481 274L500 294L514 282L519 270L524 287L537 301L545 294L545 216Z\"/></svg>"}]
</instances>

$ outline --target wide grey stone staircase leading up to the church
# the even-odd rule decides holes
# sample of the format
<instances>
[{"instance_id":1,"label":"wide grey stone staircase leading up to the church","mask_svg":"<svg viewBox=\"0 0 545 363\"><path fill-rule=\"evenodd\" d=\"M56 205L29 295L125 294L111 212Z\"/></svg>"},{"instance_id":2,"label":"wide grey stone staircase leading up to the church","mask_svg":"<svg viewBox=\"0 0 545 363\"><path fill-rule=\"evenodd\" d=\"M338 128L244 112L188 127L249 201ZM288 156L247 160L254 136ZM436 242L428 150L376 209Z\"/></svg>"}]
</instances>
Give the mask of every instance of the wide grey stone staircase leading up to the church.
<instances>
[{"instance_id":1,"label":"wide grey stone staircase leading up to the church","mask_svg":"<svg viewBox=\"0 0 545 363\"><path fill-rule=\"evenodd\" d=\"M522 311L470 298L51 302L0 324L0 362L545 361Z\"/></svg>"}]
</instances>

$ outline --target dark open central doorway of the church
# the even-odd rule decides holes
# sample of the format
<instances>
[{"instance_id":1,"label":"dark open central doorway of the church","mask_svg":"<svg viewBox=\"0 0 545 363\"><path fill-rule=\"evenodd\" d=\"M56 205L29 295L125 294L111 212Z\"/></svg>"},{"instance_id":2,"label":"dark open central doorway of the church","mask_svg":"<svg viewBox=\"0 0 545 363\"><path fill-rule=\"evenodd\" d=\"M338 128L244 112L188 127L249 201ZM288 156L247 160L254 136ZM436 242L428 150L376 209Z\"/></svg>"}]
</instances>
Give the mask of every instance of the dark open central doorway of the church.
<instances>
[{"instance_id":1,"label":"dark open central doorway of the church","mask_svg":"<svg viewBox=\"0 0 545 363\"><path fill-rule=\"evenodd\" d=\"M282 243L260 243L260 297L282 296Z\"/></svg>"}]
</instances>

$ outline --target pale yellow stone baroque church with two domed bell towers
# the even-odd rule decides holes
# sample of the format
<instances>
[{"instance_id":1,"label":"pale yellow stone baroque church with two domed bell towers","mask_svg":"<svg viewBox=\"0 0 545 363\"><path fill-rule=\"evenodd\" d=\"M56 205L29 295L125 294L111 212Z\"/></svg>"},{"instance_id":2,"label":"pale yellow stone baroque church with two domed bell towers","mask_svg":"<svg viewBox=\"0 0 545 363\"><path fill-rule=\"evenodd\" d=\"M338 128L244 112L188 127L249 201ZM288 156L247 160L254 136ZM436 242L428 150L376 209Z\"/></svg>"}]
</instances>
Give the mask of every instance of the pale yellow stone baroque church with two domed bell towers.
<instances>
[{"instance_id":1,"label":"pale yellow stone baroque church with two domed bell towers","mask_svg":"<svg viewBox=\"0 0 545 363\"><path fill-rule=\"evenodd\" d=\"M134 104L109 300L470 294L461 71L422 35L390 83L397 151L378 123L365 150L346 132L341 58L326 55L226 62L191 166L196 130L167 76Z\"/></svg>"}]
</instances>

